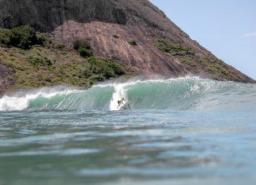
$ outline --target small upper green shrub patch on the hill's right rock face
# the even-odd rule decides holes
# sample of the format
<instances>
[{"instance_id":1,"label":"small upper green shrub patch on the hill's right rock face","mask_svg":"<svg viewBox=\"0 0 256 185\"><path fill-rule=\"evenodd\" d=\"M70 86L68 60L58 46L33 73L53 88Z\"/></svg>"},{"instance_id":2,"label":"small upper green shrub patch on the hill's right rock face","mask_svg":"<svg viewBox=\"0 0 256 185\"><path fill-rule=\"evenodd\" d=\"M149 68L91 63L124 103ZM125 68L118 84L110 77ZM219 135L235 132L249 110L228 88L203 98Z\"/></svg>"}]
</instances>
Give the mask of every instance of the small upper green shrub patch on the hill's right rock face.
<instances>
[{"instance_id":1,"label":"small upper green shrub patch on the hill's right rock face","mask_svg":"<svg viewBox=\"0 0 256 185\"><path fill-rule=\"evenodd\" d=\"M183 56L189 54L194 55L194 51L190 48L179 43L171 43L165 39L155 39L154 44L157 50L163 51L164 53L169 53L173 56Z\"/></svg>"}]
</instances>

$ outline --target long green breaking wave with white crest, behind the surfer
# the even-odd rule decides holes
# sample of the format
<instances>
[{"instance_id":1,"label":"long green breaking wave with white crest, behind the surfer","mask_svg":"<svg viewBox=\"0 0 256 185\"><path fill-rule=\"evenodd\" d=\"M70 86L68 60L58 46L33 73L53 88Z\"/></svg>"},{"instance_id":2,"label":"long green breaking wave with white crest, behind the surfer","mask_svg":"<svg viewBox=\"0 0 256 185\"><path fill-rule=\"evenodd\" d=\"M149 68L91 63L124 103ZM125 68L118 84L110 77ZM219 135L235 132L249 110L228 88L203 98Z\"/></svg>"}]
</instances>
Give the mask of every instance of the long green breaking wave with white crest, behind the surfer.
<instances>
[{"instance_id":1,"label":"long green breaking wave with white crest, behind the surfer","mask_svg":"<svg viewBox=\"0 0 256 185\"><path fill-rule=\"evenodd\" d=\"M130 80L98 84L88 90L74 87L43 87L0 99L0 110L117 110L126 98L126 109L252 109L254 84L183 77L168 80Z\"/></svg>"}]
</instances>

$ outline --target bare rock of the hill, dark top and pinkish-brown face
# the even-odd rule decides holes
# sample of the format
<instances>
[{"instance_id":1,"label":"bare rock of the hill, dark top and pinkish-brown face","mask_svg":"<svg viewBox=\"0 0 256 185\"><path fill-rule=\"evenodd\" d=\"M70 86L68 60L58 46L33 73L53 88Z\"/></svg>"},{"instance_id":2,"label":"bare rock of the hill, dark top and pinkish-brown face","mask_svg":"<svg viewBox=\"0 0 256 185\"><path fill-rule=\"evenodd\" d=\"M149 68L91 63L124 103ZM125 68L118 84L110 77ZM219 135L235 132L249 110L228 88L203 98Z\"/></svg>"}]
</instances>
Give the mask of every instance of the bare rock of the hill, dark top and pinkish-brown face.
<instances>
[{"instance_id":1,"label":"bare rock of the hill, dark top and pinkish-brown face","mask_svg":"<svg viewBox=\"0 0 256 185\"><path fill-rule=\"evenodd\" d=\"M1 28L29 24L65 46L86 39L97 57L115 59L136 74L255 83L190 39L147 0L0 0L0 7ZM0 86L17 83L3 62L0 70Z\"/></svg>"}]
</instances>

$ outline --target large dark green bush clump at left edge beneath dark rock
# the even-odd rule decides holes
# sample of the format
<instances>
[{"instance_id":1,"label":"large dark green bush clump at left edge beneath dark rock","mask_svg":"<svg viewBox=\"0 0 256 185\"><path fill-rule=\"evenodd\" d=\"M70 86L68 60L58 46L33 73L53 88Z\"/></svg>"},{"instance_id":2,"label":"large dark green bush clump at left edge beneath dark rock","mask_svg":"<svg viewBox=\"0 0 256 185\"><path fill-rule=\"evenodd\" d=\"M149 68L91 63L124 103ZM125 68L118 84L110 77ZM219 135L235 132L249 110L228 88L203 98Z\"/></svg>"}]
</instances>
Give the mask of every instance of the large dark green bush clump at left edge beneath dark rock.
<instances>
[{"instance_id":1,"label":"large dark green bush clump at left edge beneath dark rock","mask_svg":"<svg viewBox=\"0 0 256 185\"><path fill-rule=\"evenodd\" d=\"M0 29L0 43L28 50L36 44L42 44L43 38L36 35L34 28L25 25L11 30Z\"/></svg>"}]
</instances>

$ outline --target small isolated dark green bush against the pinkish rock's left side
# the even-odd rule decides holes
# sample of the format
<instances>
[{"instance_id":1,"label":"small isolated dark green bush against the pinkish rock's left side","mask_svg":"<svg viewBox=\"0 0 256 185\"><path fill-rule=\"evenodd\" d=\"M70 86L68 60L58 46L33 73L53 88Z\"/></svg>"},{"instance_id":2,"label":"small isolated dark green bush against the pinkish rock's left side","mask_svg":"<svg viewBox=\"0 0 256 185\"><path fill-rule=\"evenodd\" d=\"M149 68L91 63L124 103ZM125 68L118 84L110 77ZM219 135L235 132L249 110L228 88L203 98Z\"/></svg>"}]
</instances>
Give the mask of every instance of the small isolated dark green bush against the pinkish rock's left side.
<instances>
[{"instance_id":1,"label":"small isolated dark green bush against the pinkish rock's left side","mask_svg":"<svg viewBox=\"0 0 256 185\"><path fill-rule=\"evenodd\" d=\"M73 43L73 49L78 50L81 57L87 58L93 56L93 51L88 40L76 40Z\"/></svg>"}]
</instances>

